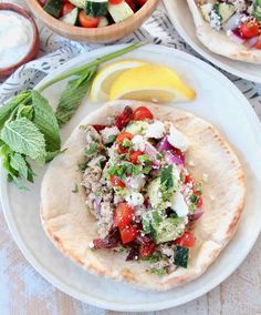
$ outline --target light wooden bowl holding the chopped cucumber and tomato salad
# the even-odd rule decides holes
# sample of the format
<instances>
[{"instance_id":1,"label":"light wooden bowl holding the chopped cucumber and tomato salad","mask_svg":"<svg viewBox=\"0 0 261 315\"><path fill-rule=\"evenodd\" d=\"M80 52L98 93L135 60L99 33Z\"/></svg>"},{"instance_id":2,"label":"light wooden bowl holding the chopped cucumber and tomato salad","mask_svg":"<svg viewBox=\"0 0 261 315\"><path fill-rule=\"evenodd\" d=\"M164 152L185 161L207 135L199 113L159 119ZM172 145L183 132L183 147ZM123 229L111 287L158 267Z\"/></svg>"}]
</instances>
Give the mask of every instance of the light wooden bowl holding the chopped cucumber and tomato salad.
<instances>
[{"instance_id":1,"label":"light wooden bowl holding the chopped cucumber and tomato salad","mask_svg":"<svg viewBox=\"0 0 261 315\"><path fill-rule=\"evenodd\" d=\"M27 2L35 17L54 32L75 41L107 43L128 35L138 29L156 9L158 0L148 0L132 18L121 23L96 29L66 24L46 13L38 0L28 0Z\"/></svg>"}]
</instances>

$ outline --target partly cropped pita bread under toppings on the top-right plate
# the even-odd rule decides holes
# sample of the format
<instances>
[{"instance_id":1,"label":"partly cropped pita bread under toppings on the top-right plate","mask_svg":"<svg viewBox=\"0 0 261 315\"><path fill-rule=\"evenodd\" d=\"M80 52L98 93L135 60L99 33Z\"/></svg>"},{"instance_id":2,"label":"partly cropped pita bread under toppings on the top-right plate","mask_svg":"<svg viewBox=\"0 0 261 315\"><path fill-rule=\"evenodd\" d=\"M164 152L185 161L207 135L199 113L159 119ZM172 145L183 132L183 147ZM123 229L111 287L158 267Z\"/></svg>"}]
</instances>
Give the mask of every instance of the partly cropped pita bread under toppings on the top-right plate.
<instances>
[{"instance_id":1,"label":"partly cropped pita bread under toppings on the top-right plate","mask_svg":"<svg viewBox=\"0 0 261 315\"><path fill-rule=\"evenodd\" d=\"M225 31L216 31L203 20L200 9L197 6L201 4L202 0L187 1L194 17L197 37L202 44L209 50L230 59L261 63L261 50L234 42Z\"/></svg>"}]
</instances>

